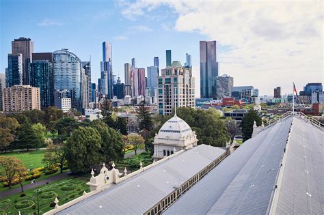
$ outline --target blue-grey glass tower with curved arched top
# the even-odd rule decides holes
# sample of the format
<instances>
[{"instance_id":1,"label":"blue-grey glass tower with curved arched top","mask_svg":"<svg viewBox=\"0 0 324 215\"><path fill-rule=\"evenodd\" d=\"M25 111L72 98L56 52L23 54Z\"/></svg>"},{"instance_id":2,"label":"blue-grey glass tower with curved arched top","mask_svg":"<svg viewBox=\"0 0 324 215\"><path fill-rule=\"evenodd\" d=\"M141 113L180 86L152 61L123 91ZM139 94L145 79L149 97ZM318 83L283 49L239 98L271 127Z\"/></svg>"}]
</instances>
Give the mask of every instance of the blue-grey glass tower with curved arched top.
<instances>
[{"instance_id":1,"label":"blue-grey glass tower with curved arched top","mask_svg":"<svg viewBox=\"0 0 324 215\"><path fill-rule=\"evenodd\" d=\"M53 53L54 89L70 91L72 108L82 111L81 59L67 49Z\"/></svg>"}]
</instances>

